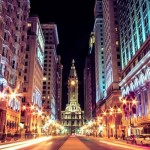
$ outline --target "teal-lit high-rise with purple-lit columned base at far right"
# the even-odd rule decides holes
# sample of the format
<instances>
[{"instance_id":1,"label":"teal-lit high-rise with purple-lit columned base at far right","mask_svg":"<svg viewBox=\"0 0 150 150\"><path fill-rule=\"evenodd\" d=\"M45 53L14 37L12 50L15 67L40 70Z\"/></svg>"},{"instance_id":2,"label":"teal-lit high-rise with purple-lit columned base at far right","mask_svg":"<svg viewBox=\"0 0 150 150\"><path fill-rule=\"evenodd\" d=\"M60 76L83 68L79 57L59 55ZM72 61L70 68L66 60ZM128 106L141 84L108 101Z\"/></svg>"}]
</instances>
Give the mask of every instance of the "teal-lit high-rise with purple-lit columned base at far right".
<instances>
[{"instance_id":1,"label":"teal-lit high-rise with purple-lit columned base at far right","mask_svg":"<svg viewBox=\"0 0 150 150\"><path fill-rule=\"evenodd\" d=\"M123 125L126 135L130 135L131 130L136 134L149 133L150 1L118 0L118 5L122 60L122 81L119 85L123 97L129 95L131 100L135 98L137 101L136 111L123 117Z\"/></svg>"}]
</instances>

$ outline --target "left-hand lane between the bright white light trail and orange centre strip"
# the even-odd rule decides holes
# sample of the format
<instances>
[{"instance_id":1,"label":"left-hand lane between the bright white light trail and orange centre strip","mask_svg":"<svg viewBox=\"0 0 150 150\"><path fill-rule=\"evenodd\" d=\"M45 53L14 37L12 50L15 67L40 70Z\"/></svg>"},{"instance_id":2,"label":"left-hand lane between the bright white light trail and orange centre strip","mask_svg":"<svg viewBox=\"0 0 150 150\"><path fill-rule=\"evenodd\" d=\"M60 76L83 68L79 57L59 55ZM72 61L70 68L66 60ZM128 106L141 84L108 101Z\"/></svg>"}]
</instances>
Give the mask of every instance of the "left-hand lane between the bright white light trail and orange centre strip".
<instances>
[{"instance_id":1,"label":"left-hand lane between the bright white light trail and orange centre strip","mask_svg":"<svg viewBox=\"0 0 150 150\"><path fill-rule=\"evenodd\" d=\"M34 144L20 150L58 150L64 142L68 139L68 136L53 136L50 140Z\"/></svg>"}]
</instances>

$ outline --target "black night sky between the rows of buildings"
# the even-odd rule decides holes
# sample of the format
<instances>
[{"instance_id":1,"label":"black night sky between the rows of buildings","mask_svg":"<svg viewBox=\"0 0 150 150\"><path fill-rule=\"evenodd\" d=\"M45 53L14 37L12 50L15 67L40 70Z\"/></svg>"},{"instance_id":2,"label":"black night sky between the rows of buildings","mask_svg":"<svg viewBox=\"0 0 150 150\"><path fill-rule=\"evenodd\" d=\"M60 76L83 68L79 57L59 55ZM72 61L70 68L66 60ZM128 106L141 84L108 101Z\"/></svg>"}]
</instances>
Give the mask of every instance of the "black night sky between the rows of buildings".
<instances>
[{"instance_id":1,"label":"black night sky between the rows of buildings","mask_svg":"<svg viewBox=\"0 0 150 150\"><path fill-rule=\"evenodd\" d=\"M83 68L88 53L90 32L94 26L95 0L30 0L30 15L38 15L40 23L57 24L59 45L63 65L62 109L67 98L67 80L72 59L79 80L79 103L83 109Z\"/></svg>"}]
</instances>

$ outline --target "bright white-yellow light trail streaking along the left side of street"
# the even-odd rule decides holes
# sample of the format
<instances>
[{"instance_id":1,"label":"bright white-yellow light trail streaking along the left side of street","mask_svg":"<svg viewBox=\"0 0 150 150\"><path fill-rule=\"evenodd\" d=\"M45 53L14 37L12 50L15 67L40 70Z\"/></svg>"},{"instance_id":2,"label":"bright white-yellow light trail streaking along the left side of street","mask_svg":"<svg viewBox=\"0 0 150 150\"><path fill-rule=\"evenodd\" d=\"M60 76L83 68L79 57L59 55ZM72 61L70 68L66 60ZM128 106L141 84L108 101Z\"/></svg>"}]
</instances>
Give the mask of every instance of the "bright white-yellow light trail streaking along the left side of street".
<instances>
[{"instance_id":1,"label":"bright white-yellow light trail streaking along the left side of street","mask_svg":"<svg viewBox=\"0 0 150 150\"><path fill-rule=\"evenodd\" d=\"M6 145L1 145L0 149L2 150L17 150L17 149L21 149L27 146L31 146L40 142L44 142L47 140L50 140L52 137L42 137L42 138L38 138L38 139L33 139L33 140L29 140L29 141L24 141L24 142L18 142L18 143L12 143L12 144L6 144Z\"/></svg>"}]
</instances>

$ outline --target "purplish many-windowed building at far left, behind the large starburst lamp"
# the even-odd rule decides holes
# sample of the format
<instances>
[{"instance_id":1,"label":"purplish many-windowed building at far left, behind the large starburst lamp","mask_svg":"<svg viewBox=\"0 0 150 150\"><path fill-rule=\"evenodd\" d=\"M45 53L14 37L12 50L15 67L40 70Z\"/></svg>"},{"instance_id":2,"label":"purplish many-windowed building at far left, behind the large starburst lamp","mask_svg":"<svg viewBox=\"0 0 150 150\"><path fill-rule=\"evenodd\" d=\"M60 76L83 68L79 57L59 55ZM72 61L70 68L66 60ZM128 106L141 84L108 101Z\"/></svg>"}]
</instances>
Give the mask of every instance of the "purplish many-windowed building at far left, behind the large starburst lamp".
<instances>
[{"instance_id":1,"label":"purplish many-windowed building at far left, behind the large starburst lamp","mask_svg":"<svg viewBox=\"0 0 150 150\"><path fill-rule=\"evenodd\" d=\"M0 134L19 130L30 1L0 1ZM8 89L8 90L6 90Z\"/></svg>"}]
</instances>

